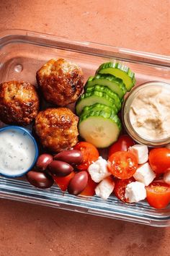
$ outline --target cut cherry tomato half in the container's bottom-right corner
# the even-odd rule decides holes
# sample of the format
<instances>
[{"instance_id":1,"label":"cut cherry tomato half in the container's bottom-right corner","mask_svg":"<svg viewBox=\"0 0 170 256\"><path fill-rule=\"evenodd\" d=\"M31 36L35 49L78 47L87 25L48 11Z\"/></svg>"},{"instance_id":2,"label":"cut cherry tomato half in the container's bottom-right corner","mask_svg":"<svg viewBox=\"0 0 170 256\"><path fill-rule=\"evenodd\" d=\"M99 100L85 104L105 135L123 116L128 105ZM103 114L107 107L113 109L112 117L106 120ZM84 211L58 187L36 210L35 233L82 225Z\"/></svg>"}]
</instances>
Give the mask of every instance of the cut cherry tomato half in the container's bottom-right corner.
<instances>
[{"instance_id":1,"label":"cut cherry tomato half in the container's bottom-right corner","mask_svg":"<svg viewBox=\"0 0 170 256\"><path fill-rule=\"evenodd\" d=\"M170 202L170 186L162 180L152 182L146 187L147 201L153 208L165 208Z\"/></svg>"}]
</instances>

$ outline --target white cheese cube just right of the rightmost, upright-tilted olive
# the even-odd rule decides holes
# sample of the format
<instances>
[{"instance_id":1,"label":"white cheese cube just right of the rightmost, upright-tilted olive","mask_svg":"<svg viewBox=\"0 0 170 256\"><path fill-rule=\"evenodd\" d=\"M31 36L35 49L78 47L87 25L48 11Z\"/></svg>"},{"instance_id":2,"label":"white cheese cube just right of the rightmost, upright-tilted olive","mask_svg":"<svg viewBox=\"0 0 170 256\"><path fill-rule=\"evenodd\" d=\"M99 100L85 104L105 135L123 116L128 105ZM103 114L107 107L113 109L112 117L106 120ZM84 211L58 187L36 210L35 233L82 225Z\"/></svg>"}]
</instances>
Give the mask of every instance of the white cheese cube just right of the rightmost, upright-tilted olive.
<instances>
[{"instance_id":1,"label":"white cheese cube just right of the rightmost, upright-tilted olive","mask_svg":"<svg viewBox=\"0 0 170 256\"><path fill-rule=\"evenodd\" d=\"M112 194L114 187L115 182L113 182L110 177L105 178L97 185L95 189L96 195L101 197L103 200L107 200L109 195Z\"/></svg>"}]
</instances>

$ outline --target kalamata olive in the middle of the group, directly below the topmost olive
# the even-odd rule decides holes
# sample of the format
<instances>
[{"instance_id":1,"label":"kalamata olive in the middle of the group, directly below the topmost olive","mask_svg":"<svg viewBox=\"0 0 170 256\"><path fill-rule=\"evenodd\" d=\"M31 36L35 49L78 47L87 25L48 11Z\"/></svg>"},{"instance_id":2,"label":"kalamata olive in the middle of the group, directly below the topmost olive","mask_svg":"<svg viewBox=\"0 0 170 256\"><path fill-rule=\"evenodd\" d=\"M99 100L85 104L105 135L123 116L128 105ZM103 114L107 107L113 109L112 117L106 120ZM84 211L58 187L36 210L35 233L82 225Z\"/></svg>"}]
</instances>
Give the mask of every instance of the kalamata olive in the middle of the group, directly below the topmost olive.
<instances>
[{"instance_id":1,"label":"kalamata olive in the middle of the group, directly below the topmost olive","mask_svg":"<svg viewBox=\"0 0 170 256\"><path fill-rule=\"evenodd\" d=\"M55 174L58 177L63 177L71 174L71 171L73 171L73 167L69 163L56 160L52 161L48 165L48 170L51 174Z\"/></svg>"}]
</instances>

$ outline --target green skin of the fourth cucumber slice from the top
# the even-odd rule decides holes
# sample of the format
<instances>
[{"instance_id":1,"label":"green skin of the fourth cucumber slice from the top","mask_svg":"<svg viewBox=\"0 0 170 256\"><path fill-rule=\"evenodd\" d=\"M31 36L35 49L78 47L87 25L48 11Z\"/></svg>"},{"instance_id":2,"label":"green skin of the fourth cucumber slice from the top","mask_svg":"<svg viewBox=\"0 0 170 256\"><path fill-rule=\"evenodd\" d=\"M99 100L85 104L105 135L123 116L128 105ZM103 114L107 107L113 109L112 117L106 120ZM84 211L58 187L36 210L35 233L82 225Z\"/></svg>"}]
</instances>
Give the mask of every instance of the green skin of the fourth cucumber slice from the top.
<instances>
[{"instance_id":1,"label":"green skin of the fourth cucumber slice from the top","mask_svg":"<svg viewBox=\"0 0 170 256\"><path fill-rule=\"evenodd\" d=\"M81 104L81 101L84 101L85 99L88 99L90 97L97 97L97 98L100 98L100 99L104 99L104 101L106 101L106 106L114 106L114 108L117 109L117 107L115 106L115 101L110 98L106 93L102 93L102 92L98 92L98 91L94 91L94 92L91 92L91 93L84 93L83 95L81 95L81 97L79 98L79 100L77 101L76 103L76 114L79 116L81 114L81 111L83 110L83 108L79 111L79 106ZM90 104L90 105L93 105L93 104ZM89 106L89 105L86 105L86 106ZM117 112L118 112L118 109L117 109Z\"/></svg>"}]
</instances>

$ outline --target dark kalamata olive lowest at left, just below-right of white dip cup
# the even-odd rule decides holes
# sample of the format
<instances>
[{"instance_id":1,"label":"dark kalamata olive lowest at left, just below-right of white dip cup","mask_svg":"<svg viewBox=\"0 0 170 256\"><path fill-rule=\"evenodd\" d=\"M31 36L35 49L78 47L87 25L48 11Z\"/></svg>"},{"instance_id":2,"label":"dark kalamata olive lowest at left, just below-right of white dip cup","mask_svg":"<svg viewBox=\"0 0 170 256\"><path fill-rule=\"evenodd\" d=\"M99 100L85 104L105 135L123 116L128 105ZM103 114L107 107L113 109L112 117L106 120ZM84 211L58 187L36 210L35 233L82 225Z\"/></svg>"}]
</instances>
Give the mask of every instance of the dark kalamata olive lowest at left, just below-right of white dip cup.
<instances>
[{"instance_id":1,"label":"dark kalamata olive lowest at left, just below-right of white dip cup","mask_svg":"<svg viewBox=\"0 0 170 256\"><path fill-rule=\"evenodd\" d=\"M44 172L29 171L26 176L30 184L40 189L48 189L54 183L53 178Z\"/></svg>"}]
</instances>

